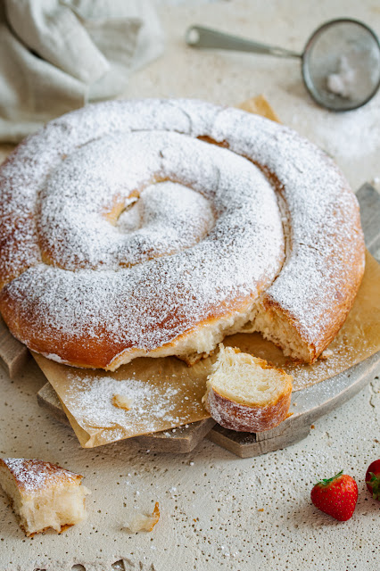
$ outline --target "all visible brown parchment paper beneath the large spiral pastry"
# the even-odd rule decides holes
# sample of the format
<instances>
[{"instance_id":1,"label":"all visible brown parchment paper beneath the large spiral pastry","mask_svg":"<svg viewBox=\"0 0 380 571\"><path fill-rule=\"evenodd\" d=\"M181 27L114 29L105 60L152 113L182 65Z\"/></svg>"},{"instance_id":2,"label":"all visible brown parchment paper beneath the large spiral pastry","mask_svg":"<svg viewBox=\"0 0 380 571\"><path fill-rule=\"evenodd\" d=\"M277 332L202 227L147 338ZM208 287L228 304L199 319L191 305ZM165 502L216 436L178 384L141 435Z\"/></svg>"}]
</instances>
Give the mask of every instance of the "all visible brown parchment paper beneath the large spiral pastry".
<instances>
[{"instance_id":1,"label":"all visible brown parchment paper beneath the large spiral pastry","mask_svg":"<svg viewBox=\"0 0 380 571\"><path fill-rule=\"evenodd\" d=\"M261 95L241 107L278 120ZM359 293L348 319L329 346L331 356L327 360L296 365L260 334L232 335L224 343L284 368L293 375L293 391L335 377L380 350L379 264L367 252ZM191 368L175 357L136 359L114 373L71 368L41 355L34 357L58 394L79 443L86 448L209 417L202 406L202 395L216 354ZM131 398L130 410L114 407L114 394Z\"/></svg>"}]
</instances>

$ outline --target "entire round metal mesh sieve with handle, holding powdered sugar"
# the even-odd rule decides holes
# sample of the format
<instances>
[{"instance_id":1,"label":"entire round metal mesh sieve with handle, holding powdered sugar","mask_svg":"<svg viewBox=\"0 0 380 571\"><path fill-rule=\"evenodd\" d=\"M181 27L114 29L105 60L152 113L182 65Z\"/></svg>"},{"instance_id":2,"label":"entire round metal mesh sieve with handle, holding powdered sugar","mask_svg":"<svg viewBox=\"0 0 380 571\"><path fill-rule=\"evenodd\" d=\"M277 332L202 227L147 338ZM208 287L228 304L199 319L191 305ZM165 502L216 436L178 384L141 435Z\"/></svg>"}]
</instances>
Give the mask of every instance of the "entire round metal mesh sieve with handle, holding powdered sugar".
<instances>
[{"instance_id":1,"label":"entire round metal mesh sieve with handle, holding powdered sugar","mask_svg":"<svg viewBox=\"0 0 380 571\"><path fill-rule=\"evenodd\" d=\"M292 57L302 60L302 78L311 97L333 111L350 111L367 103L380 86L380 43L360 21L327 21L310 36L302 54L283 47L191 26L188 46Z\"/></svg>"}]
</instances>

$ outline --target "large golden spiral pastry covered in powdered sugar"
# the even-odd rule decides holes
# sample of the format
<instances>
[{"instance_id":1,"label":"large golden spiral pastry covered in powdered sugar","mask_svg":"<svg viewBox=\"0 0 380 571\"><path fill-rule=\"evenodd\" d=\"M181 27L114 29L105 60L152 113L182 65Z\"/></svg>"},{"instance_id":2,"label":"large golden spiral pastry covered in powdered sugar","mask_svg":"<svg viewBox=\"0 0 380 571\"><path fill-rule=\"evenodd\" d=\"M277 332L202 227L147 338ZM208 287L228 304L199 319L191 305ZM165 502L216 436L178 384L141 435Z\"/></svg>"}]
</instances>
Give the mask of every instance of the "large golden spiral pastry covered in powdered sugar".
<instances>
[{"instance_id":1,"label":"large golden spiral pastry covered in powdered sugar","mask_svg":"<svg viewBox=\"0 0 380 571\"><path fill-rule=\"evenodd\" d=\"M114 370L260 331L311 362L364 271L356 198L291 129L192 100L115 101L0 169L0 311L33 351Z\"/></svg>"}]
</instances>

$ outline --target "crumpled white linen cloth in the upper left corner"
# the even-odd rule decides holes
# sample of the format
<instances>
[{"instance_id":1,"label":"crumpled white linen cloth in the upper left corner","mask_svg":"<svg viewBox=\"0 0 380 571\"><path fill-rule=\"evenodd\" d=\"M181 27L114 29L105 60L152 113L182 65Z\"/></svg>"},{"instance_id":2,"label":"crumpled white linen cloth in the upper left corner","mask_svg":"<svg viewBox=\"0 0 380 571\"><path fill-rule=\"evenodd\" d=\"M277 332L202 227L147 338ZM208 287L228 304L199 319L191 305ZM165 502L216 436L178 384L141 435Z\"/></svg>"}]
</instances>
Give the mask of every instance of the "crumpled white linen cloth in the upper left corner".
<instances>
[{"instance_id":1,"label":"crumpled white linen cloth in the upper left corner","mask_svg":"<svg viewBox=\"0 0 380 571\"><path fill-rule=\"evenodd\" d=\"M0 0L0 141L120 95L162 50L149 0Z\"/></svg>"}]
</instances>

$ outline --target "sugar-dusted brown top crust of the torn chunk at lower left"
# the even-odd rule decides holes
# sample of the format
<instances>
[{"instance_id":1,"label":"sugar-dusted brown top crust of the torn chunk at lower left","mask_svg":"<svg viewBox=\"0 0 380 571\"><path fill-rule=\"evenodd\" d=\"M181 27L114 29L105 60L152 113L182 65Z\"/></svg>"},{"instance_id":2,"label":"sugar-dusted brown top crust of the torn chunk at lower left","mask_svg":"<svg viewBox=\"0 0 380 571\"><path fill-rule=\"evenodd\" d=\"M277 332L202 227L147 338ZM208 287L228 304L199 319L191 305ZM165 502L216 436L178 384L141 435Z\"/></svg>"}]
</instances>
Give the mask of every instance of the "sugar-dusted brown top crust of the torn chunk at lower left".
<instances>
[{"instance_id":1,"label":"sugar-dusted brown top crust of the torn chunk at lower left","mask_svg":"<svg viewBox=\"0 0 380 571\"><path fill-rule=\"evenodd\" d=\"M39 459L3 458L1 460L25 492L37 492L47 486L68 484L78 474Z\"/></svg>"}]
</instances>

